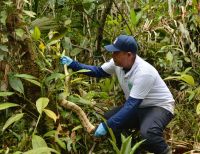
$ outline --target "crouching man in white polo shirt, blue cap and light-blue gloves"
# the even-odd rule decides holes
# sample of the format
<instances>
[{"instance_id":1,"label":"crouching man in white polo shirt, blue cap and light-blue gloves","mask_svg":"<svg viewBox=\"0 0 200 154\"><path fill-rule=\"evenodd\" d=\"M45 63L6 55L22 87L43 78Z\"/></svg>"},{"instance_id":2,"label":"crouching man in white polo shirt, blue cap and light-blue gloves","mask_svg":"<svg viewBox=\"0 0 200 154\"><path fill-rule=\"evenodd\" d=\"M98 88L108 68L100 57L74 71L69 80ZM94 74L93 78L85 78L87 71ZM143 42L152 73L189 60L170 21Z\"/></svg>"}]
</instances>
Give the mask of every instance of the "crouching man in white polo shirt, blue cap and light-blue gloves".
<instances>
[{"instance_id":1,"label":"crouching man in white polo shirt, blue cap and light-blue gloves","mask_svg":"<svg viewBox=\"0 0 200 154\"><path fill-rule=\"evenodd\" d=\"M157 70L137 55L137 42L132 36L120 35L113 44L105 46L112 59L101 67L90 66L62 57L61 63L74 71L88 69L86 75L109 77L115 74L125 94L123 106L105 113L107 125L121 144L122 131L139 130L146 139L144 147L155 154L169 154L170 149L163 138L163 130L172 120L174 99ZM95 136L107 133L105 123L100 123Z\"/></svg>"}]
</instances>

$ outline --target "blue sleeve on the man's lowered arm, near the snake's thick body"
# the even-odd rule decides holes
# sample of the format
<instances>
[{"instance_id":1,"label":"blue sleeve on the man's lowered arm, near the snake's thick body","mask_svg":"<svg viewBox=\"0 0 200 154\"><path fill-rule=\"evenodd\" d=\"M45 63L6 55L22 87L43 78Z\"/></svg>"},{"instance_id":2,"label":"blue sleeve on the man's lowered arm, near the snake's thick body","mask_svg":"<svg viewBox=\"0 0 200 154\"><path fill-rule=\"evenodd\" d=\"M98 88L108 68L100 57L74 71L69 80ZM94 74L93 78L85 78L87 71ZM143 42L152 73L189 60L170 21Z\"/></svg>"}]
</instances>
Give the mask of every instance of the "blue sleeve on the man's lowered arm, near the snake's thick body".
<instances>
[{"instance_id":1,"label":"blue sleeve on the man's lowered arm, near the snake's thick body","mask_svg":"<svg viewBox=\"0 0 200 154\"><path fill-rule=\"evenodd\" d=\"M136 99L129 96L124 106L116 114L108 119L107 125L113 130L117 130L118 128L122 127L123 123L128 118L133 116L141 102L142 99Z\"/></svg>"}]
</instances>

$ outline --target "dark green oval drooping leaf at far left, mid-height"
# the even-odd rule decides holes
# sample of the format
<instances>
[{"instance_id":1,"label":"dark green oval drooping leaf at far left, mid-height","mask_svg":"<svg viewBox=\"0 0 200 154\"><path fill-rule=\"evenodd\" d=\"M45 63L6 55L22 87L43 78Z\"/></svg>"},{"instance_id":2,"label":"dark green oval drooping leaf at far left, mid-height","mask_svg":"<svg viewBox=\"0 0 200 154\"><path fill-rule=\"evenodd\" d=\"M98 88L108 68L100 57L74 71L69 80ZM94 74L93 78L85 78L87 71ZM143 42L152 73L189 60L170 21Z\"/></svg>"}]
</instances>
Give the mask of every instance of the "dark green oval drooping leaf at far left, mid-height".
<instances>
[{"instance_id":1,"label":"dark green oval drooping leaf at far left, mid-height","mask_svg":"<svg viewBox=\"0 0 200 154\"><path fill-rule=\"evenodd\" d=\"M24 86L19 78L9 76L9 84L14 90L24 94Z\"/></svg>"}]
</instances>

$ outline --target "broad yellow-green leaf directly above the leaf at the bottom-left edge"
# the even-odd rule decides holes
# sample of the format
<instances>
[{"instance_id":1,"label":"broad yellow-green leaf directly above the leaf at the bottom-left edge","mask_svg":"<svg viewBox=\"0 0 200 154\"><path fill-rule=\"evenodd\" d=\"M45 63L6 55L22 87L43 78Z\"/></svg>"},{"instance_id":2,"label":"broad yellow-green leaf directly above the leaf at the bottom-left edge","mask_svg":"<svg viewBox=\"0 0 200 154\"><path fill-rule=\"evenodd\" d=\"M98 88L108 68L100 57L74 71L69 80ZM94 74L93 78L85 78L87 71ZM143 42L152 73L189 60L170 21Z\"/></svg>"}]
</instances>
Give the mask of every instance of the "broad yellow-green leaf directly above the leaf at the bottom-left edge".
<instances>
[{"instance_id":1,"label":"broad yellow-green leaf directly above the leaf at the bottom-left edge","mask_svg":"<svg viewBox=\"0 0 200 154\"><path fill-rule=\"evenodd\" d=\"M41 147L47 147L47 144L42 137L40 137L38 135L33 135L32 136L32 147L33 147L33 149L38 149Z\"/></svg>"}]
</instances>

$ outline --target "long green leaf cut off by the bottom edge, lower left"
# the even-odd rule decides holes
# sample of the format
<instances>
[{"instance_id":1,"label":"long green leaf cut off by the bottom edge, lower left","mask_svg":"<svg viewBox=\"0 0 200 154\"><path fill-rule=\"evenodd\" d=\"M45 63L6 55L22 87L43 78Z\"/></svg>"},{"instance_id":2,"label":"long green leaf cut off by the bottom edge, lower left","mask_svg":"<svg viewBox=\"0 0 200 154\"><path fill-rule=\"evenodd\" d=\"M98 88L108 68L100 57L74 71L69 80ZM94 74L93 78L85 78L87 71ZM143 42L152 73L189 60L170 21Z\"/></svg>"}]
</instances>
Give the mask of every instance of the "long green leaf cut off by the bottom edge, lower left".
<instances>
[{"instance_id":1,"label":"long green leaf cut off by the bottom edge, lower left","mask_svg":"<svg viewBox=\"0 0 200 154\"><path fill-rule=\"evenodd\" d=\"M46 153L51 153L51 152L60 154L58 151L56 151L52 148L48 148L48 147L41 147L41 148L29 150L27 152L24 152L23 154L46 154Z\"/></svg>"}]
</instances>

